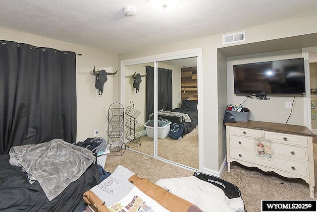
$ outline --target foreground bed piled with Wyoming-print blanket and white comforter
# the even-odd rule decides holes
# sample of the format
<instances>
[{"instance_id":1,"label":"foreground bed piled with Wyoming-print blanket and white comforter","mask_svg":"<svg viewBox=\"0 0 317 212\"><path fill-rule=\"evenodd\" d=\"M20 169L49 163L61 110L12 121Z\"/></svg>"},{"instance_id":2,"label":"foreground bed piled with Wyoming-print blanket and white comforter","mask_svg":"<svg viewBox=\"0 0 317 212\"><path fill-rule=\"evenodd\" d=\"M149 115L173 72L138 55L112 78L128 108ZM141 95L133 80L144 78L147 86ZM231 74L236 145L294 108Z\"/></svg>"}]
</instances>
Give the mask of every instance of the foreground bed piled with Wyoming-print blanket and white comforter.
<instances>
[{"instance_id":1,"label":"foreground bed piled with Wyoming-print blanket and white comforter","mask_svg":"<svg viewBox=\"0 0 317 212\"><path fill-rule=\"evenodd\" d=\"M245 212L240 190L220 178L195 172L154 184L120 165L84 200L96 212Z\"/></svg>"}]
</instances>

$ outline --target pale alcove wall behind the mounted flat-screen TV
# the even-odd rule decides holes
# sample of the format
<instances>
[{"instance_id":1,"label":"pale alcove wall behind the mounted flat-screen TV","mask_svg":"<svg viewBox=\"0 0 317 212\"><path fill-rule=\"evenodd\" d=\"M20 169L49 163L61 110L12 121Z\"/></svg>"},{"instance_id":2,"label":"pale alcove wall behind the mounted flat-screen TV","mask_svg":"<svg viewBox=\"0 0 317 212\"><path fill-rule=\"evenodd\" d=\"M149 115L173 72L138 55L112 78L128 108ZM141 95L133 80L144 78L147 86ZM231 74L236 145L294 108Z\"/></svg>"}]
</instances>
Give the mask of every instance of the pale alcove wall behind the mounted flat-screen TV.
<instances>
[{"instance_id":1,"label":"pale alcove wall behind the mounted flat-screen TV","mask_svg":"<svg viewBox=\"0 0 317 212\"><path fill-rule=\"evenodd\" d=\"M243 55L227 58L227 90L228 104L239 105L247 98L234 94L233 65L276 61L292 58L301 58L301 49L288 51L267 52L252 55ZM269 100L248 99L244 107L251 110L250 120L286 123L291 109L285 109L285 102L292 102L294 95L267 95ZM288 124L304 125L304 100L303 95L296 95L293 103L292 115Z\"/></svg>"}]
</instances>

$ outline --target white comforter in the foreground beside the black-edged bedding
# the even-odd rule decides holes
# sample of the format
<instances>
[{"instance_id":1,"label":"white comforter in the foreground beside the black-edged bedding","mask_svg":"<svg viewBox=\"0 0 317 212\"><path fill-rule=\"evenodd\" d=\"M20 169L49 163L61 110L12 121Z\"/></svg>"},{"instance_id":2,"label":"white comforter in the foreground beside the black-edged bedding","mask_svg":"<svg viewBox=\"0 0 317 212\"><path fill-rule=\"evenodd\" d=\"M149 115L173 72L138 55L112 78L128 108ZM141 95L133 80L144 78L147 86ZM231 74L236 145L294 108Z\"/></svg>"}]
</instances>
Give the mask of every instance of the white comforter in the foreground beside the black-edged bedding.
<instances>
[{"instance_id":1,"label":"white comforter in the foreground beside the black-edged bedding","mask_svg":"<svg viewBox=\"0 0 317 212\"><path fill-rule=\"evenodd\" d=\"M241 198L228 199L220 188L195 176L161 179L156 184L204 212L244 212Z\"/></svg>"}]
</instances>

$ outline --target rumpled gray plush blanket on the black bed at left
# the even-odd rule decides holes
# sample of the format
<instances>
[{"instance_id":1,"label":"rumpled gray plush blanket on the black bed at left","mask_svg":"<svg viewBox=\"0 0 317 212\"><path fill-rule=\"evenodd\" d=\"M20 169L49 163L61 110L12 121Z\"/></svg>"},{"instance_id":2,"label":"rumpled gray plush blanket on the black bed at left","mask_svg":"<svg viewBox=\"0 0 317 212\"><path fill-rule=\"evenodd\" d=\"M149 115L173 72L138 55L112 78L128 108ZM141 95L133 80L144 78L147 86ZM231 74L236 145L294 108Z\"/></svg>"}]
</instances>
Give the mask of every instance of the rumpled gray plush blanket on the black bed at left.
<instances>
[{"instance_id":1,"label":"rumpled gray plush blanket on the black bed at left","mask_svg":"<svg viewBox=\"0 0 317 212\"><path fill-rule=\"evenodd\" d=\"M90 150L61 139L14 146L9 155L10 164L22 167L30 183L37 180L49 201L76 181L95 160Z\"/></svg>"}]
</instances>

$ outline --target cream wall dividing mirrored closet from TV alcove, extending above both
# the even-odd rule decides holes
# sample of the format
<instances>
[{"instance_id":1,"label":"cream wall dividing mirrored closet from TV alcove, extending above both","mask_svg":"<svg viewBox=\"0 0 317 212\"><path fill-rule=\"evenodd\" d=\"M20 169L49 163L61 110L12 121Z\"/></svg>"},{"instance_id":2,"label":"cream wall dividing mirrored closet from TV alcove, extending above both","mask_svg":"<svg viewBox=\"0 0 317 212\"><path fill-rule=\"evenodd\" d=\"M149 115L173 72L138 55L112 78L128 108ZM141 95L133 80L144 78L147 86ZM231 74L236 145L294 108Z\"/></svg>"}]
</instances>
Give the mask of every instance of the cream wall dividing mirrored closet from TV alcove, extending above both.
<instances>
[{"instance_id":1,"label":"cream wall dividing mirrored closet from TV alcove, extending above both","mask_svg":"<svg viewBox=\"0 0 317 212\"><path fill-rule=\"evenodd\" d=\"M291 36L305 35L317 32L317 15L306 16L297 19L290 19L271 24L256 26L238 31L246 32L246 42L233 44L261 42ZM236 31L235 31L236 32ZM229 34L234 32L227 32ZM152 55L171 53L176 51L202 48L203 50L203 116L204 116L204 170L217 172L224 159L223 146L225 137L223 136L223 126L219 124L223 118L223 102L227 101L227 95L219 96L218 83L226 84L223 76L218 81L218 59L217 49L222 45L222 35L188 40L184 42L172 43L155 48L145 49L137 52L119 55L119 61L134 59ZM233 46L232 45L232 46ZM230 45L226 45L230 46ZM223 56L225 57L225 56ZM220 62L221 63L221 62ZM226 71L224 69L223 71ZM284 100L283 100L284 101ZM240 101L238 101L240 103ZM265 109L263 107L263 109ZM284 117L284 114L281 115ZM221 120L221 121L220 121ZM200 138L201 139L201 138Z\"/></svg>"}]
</instances>

